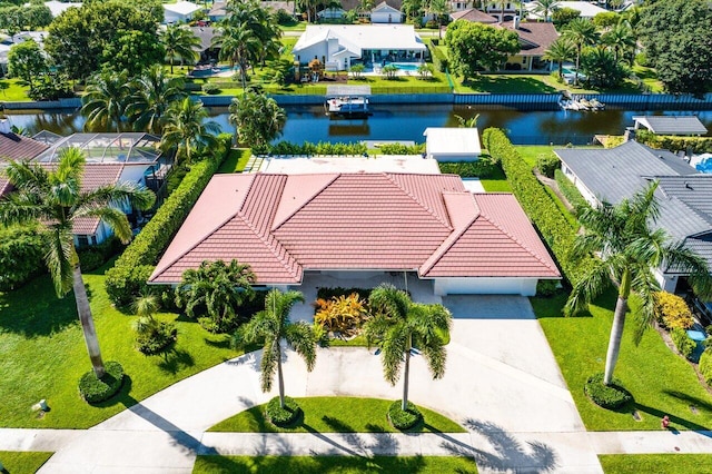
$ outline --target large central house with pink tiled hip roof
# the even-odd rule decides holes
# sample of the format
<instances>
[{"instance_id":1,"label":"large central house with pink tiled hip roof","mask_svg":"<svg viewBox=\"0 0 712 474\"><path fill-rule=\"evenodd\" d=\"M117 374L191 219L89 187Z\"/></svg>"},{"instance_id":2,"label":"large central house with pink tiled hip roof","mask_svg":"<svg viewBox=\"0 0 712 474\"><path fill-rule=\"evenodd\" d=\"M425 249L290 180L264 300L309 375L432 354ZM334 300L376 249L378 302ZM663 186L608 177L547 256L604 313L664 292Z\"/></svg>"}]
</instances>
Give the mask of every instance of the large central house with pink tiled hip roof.
<instances>
[{"instance_id":1,"label":"large central house with pink tiled hip roof","mask_svg":"<svg viewBox=\"0 0 712 474\"><path fill-rule=\"evenodd\" d=\"M534 295L556 265L510 194L473 195L454 175L215 176L149 278L177 285L204 260L249 264L257 286L309 275L408 273L436 295Z\"/></svg>"}]
</instances>

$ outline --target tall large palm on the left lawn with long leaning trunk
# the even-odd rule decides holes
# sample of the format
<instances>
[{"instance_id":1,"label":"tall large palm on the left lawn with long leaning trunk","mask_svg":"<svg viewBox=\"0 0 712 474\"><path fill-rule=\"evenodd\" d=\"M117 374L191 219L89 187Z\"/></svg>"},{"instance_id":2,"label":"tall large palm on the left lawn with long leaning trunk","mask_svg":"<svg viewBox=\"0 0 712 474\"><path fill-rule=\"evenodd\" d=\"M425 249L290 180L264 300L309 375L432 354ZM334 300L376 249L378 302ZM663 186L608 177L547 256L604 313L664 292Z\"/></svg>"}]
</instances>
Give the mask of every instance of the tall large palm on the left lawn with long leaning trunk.
<instances>
[{"instance_id":1,"label":"tall large palm on the left lawn with long leaning trunk","mask_svg":"<svg viewBox=\"0 0 712 474\"><path fill-rule=\"evenodd\" d=\"M4 175L16 191L0 200L0 223L6 226L40 226L47 247L44 259L57 296L61 298L73 288L89 358L97 377L102 377L103 361L75 248L72 227L78 219L98 217L113 229L121 241L127 243L131 238L131 227L119 209L128 205L148 209L154 205L155 196L135 182L83 190L81 178L85 164L82 151L76 147L62 148L57 167L51 171L36 164L10 161Z\"/></svg>"}]
</instances>

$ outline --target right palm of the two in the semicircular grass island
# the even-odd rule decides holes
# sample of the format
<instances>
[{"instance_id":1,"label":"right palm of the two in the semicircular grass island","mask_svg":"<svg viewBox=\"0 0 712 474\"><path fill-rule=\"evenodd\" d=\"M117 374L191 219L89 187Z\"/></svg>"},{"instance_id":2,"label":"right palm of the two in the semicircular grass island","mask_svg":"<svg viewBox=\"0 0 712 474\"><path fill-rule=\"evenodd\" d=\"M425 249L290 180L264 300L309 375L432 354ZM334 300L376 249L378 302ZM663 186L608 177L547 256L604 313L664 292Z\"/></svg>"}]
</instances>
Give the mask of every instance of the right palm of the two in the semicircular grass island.
<instances>
[{"instance_id":1,"label":"right palm of the two in the semicircular grass island","mask_svg":"<svg viewBox=\"0 0 712 474\"><path fill-rule=\"evenodd\" d=\"M366 339L376 342L383 353L386 381L395 385L403 371L403 405L408 406L408 377L412 352L419 350L433 378L445 375L446 352L439 333L449 330L452 315L443 305L413 303L407 293L382 284L368 297L376 314L364 327ZM417 349L416 349L417 347Z\"/></svg>"}]
</instances>

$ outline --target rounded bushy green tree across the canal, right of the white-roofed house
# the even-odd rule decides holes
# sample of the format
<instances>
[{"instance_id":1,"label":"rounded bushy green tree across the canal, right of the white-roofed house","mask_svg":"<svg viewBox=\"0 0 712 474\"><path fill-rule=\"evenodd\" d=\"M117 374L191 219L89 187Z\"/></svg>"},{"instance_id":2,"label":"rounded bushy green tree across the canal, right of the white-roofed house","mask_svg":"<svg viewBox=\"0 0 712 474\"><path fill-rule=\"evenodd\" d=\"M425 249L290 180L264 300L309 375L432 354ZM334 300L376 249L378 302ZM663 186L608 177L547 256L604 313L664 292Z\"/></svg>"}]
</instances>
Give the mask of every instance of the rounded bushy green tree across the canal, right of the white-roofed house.
<instances>
[{"instance_id":1,"label":"rounded bushy green tree across the canal, right of the white-roofed house","mask_svg":"<svg viewBox=\"0 0 712 474\"><path fill-rule=\"evenodd\" d=\"M465 79L483 70L497 70L510 55L520 51L514 31L458 20L447 28L445 45L451 63Z\"/></svg>"}]
</instances>

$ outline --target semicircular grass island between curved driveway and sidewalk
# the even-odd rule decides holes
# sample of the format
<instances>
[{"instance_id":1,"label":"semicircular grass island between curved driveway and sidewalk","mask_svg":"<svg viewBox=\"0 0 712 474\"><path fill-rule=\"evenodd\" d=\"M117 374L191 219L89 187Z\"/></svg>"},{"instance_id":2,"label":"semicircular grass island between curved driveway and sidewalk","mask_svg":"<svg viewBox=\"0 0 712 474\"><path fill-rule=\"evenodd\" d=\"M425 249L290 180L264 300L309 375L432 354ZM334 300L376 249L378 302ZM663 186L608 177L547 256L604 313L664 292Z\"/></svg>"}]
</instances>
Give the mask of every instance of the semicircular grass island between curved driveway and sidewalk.
<instances>
[{"instance_id":1,"label":"semicircular grass island between curved driveway and sidewalk","mask_svg":"<svg viewBox=\"0 0 712 474\"><path fill-rule=\"evenodd\" d=\"M278 428L265 419L265 405L254 406L212 426L211 432L234 433L398 433L386 418L393 401L358 397L295 398L304 421L294 428ZM452 419L418 407L424 424L412 431L423 433L465 433Z\"/></svg>"}]
</instances>

